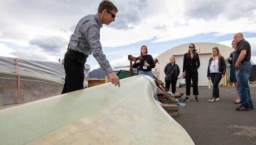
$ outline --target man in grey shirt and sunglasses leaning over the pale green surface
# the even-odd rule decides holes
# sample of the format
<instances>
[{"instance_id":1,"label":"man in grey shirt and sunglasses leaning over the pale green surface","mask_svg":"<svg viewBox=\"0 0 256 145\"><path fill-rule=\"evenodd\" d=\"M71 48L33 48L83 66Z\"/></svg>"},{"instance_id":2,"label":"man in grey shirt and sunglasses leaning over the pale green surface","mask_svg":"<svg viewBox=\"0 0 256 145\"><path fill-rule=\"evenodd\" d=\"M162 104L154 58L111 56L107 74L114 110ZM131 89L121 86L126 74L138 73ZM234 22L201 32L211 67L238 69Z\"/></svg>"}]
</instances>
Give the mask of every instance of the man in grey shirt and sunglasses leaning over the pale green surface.
<instances>
[{"instance_id":1,"label":"man in grey shirt and sunglasses leaning over the pale green surface","mask_svg":"<svg viewBox=\"0 0 256 145\"><path fill-rule=\"evenodd\" d=\"M115 21L117 12L112 2L103 0L99 4L98 13L85 16L78 22L64 56L66 77L62 94L84 88L84 64L88 55L91 54L100 67L109 74L111 83L120 87L119 78L107 61L106 55L103 54L100 44L102 24L109 25Z\"/></svg>"}]
</instances>

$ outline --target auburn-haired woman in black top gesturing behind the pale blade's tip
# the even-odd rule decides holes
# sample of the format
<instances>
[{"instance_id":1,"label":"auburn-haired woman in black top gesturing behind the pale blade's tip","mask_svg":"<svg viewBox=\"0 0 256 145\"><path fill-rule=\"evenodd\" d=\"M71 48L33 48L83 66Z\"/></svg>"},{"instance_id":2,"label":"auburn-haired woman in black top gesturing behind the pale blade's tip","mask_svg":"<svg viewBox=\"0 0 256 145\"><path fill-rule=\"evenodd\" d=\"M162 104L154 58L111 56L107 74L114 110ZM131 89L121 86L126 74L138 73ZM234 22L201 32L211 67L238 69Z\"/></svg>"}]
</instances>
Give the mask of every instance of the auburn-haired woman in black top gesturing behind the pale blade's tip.
<instances>
[{"instance_id":1,"label":"auburn-haired woman in black top gesturing behind the pale blade's tip","mask_svg":"<svg viewBox=\"0 0 256 145\"><path fill-rule=\"evenodd\" d=\"M137 68L138 66L139 66L139 74L138 75L148 75L148 76L152 77L152 79L154 79L152 69L156 66L156 64L154 64L152 55L147 54L147 46L146 45L143 45L140 47L140 56L138 58L136 58L136 61L132 65L132 67L134 69ZM158 101L157 94L154 95L154 99L156 99L156 101L158 103L160 103Z\"/></svg>"}]
</instances>

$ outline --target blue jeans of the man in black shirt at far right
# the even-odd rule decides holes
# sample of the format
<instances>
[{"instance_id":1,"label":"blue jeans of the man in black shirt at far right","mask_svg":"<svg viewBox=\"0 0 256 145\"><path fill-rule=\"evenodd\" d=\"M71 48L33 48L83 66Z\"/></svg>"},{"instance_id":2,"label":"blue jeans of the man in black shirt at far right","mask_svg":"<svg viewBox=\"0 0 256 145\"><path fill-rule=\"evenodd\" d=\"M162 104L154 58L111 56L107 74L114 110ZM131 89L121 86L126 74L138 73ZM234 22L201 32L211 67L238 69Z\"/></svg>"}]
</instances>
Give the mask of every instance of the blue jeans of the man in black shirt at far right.
<instances>
[{"instance_id":1,"label":"blue jeans of the man in black shirt at far right","mask_svg":"<svg viewBox=\"0 0 256 145\"><path fill-rule=\"evenodd\" d=\"M247 108L254 108L253 101L251 101L251 92L248 84L251 69L251 62L244 62L243 64L240 64L238 69L235 70L237 90L240 95L241 105Z\"/></svg>"}]
</instances>

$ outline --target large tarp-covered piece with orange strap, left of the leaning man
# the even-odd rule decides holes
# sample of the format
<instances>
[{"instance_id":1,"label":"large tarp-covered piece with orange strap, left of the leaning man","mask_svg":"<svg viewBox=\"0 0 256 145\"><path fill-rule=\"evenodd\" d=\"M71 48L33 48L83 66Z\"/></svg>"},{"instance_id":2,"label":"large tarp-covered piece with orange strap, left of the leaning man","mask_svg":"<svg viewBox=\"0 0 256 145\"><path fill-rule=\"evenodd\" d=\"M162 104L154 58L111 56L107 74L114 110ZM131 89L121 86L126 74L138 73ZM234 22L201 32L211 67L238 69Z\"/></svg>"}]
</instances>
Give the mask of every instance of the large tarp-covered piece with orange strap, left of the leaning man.
<instances>
[{"instance_id":1,"label":"large tarp-covered piece with orange strap, left of the leaning man","mask_svg":"<svg viewBox=\"0 0 256 145\"><path fill-rule=\"evenodd\" d=\"M58 62L0 57L0 107L58 95L64 77Z\"/></svg>"}]
</instances>

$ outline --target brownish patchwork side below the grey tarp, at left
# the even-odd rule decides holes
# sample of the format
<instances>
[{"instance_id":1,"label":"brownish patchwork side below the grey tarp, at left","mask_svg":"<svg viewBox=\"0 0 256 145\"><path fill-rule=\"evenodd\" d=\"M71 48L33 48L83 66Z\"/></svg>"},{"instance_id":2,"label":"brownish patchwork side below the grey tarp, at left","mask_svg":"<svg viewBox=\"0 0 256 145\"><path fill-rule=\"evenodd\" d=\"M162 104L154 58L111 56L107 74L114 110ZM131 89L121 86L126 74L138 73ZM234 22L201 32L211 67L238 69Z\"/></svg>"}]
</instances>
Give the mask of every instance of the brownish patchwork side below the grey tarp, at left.
<instances>
[{"instance_id":1,"label":"brownish patchwork side below the grey tarp, at left","mask_svg":"<svg viewBox=\"0 0 256 145\"><path fill-rule=\"evenodd\" d=\"M20 96L18 95L17 79L0 78L0 92L3 105L25 103L49 96L59 95L59 84L42 81L20 80Z\"/></svg>"}]
</instances>

